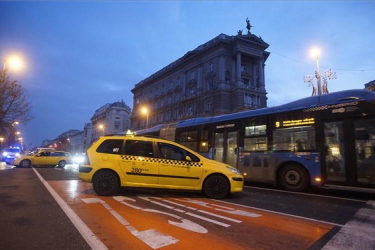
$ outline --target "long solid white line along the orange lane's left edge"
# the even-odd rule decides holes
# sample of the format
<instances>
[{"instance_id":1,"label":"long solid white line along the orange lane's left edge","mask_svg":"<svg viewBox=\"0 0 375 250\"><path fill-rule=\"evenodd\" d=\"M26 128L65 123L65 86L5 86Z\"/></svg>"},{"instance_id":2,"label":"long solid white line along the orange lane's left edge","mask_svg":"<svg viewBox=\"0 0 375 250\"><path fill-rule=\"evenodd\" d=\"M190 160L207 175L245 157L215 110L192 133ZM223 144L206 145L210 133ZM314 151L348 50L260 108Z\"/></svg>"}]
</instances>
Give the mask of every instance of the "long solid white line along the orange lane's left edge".
<instances>
[{"instance_id":1,"label":"long solid white line along the orange lane's left edge","mask_svg":"<svg viewBox=\"0 0 375 250\"><path fill-rule=\"evenodd\" d=\"M43 185L47 188L48 192L52 195L52 197L56 200L57 204L61 207L61 209L65 212L68 216L70 221L73 223L75 228L79 231L82 235L84 240L88 243L88 245L93 250L108 250L108 248L103 244L103 242L98 239L95 234L88 228L88 226L78 217L78 215L70 208L68 204L56 193L55 190L43 179L43 177L36 171L34 167L32 167L36 176L38 176L39 180Z\"/></svg>"}]
</instances>

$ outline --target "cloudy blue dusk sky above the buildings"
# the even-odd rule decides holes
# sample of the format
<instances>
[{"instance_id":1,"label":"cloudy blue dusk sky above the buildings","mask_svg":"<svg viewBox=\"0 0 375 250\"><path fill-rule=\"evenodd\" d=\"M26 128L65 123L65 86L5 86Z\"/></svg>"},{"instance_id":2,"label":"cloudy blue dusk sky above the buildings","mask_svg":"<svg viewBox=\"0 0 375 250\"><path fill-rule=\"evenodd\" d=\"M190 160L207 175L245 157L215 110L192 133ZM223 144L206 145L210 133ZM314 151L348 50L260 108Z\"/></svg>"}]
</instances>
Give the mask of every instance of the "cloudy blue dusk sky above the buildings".
<instances>
[{"instance_id":1,"label":"cloudy blue dusk sky above the buildings","mask_svg":"<svg viewBox=\"0 0 375 250\"><path fill-rule=\"evenodd\" d=\"M83 129L105 103L124 100L140 80L224 33L246 30L269 44L268 106L311 94L303 76L331 69L330 92L375 79L375 1L3 1L0 59L17 53L10 71L27 89L34 119L21 124L26 147ZM245 32L244 32L245 33ZM32 144L31 144L32 143Z\"/></svg>"}]
</instances>

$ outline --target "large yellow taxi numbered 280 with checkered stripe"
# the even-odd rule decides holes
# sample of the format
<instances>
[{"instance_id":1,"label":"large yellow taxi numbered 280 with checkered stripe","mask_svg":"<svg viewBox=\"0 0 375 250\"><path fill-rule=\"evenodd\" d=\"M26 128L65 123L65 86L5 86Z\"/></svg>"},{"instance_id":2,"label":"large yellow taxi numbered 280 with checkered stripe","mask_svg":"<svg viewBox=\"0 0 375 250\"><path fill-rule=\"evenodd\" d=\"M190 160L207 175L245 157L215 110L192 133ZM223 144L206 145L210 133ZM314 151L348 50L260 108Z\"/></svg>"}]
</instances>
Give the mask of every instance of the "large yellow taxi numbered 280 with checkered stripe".
<instances>
[{"instance_id":1,"label":"large yellow taxi numbered 280 with checkered stripe","mask_svg":"<svg viewBox=\"0 0 375 250\"><path fill-rule=\"evenodd\" d=\"M243 175L173 141L141 135L105 135L88 149L79 178L103 196L120 186L202 191L220 199L240 192Z\"/></svg>"}]
</instances>

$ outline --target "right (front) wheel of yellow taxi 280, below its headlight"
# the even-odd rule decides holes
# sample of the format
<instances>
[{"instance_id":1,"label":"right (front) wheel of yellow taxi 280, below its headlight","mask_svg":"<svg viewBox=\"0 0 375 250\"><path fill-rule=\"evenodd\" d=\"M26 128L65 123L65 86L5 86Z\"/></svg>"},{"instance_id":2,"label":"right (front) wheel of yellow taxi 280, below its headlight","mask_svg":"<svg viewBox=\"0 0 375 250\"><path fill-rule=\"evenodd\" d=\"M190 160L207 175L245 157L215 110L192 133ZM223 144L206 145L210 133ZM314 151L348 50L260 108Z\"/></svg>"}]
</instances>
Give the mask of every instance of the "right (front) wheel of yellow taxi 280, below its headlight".
<instances>
[{"instance_id":1,"label":"right (front) wheel of yellow taxi 280, below its headlight","mask_svg":"<svg viewBox=\"0 0 375 250\"><path fill-rule=\"evenodd\" d=\"M203 193L212 199L222 199L229 193L228 181L221 175L209 176L203 184Z\"/></svg>"}]
</instances>

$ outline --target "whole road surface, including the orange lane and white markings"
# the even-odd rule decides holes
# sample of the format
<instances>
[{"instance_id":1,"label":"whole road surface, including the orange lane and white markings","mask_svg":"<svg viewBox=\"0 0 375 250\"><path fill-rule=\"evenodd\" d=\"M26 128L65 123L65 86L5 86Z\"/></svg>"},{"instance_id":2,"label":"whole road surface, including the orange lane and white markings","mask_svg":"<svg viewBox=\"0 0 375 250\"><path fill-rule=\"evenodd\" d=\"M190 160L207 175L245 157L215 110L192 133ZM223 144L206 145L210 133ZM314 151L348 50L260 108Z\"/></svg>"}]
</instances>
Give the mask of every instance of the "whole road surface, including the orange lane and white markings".
<instances>
[{"instance_id":1,"label":"whole road surface, including the orange lane and white markings","mask_svg":"<svg viewBox=\"0 0 375 250\"><path fill-rule=\"evenodd\" d=\"M0 163L0 249L375 249L372 195L257 185L219 201L136 188L101 197L77 166Z\"/></svg>"}]
</instances>

